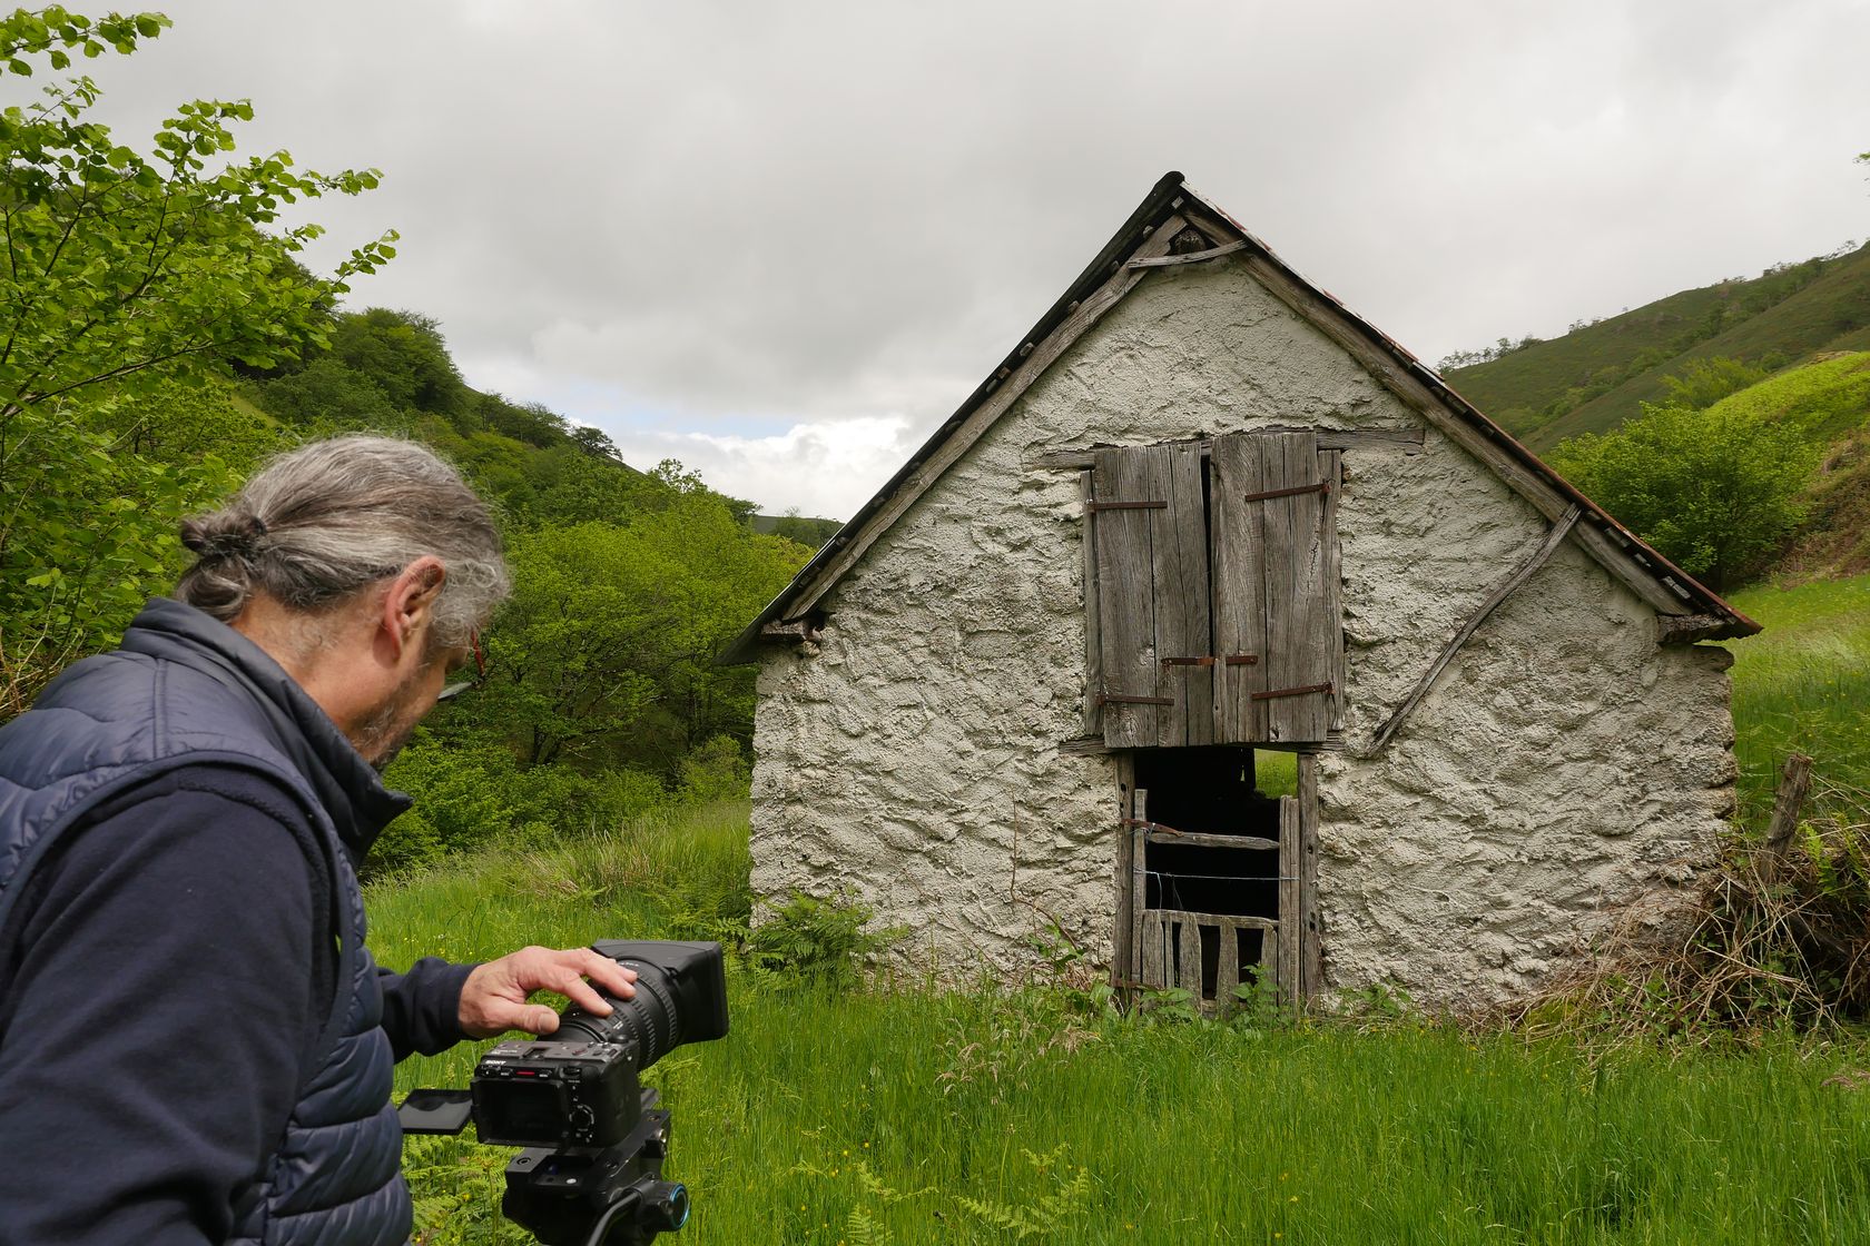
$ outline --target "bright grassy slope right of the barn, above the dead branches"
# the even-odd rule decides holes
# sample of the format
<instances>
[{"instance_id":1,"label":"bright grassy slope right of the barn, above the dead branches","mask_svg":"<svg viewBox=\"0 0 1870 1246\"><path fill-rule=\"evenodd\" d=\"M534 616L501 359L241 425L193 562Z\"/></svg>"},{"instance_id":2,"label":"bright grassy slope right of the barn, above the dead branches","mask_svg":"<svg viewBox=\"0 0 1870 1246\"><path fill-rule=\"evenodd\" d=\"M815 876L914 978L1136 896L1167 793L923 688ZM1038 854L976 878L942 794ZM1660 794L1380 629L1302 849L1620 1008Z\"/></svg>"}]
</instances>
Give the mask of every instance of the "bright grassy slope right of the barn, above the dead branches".
<instances>
[{"instance_id":1,"label":"bright grassy slope right of the barn, above the dead branches","mask_svg":"<svg viewBox=\"0 0 1870 1246\"><path fill-rule=\"evenodd\" d=\"M1788 753L1870 790L1870 575L1748 588L1732 603L1765 626L1728 643L1743 814L1758 822L1771 809Z\"/></svg>"}]
</instances>

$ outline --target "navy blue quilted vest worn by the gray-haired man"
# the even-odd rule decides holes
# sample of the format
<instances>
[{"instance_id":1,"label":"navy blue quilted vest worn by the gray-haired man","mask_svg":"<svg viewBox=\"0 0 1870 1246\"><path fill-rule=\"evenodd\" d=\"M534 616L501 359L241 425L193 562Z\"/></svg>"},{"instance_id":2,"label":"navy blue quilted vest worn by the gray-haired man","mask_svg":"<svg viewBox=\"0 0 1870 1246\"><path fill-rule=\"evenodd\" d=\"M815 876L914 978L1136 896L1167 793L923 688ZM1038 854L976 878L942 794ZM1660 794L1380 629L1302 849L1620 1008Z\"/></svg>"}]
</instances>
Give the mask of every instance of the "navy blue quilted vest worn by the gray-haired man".
<instances>
[{"instance_id":1,"label":"navy blue quilted vest worn by the gray-haired man","mask_svg":"<svg viewBox=\"0 0 1870 1246\"><path fill-rule=\"evenodd\" d=\"M396 1246L411 1212L395 1057L353 865L408 800L260 646L157 598L118 652L73 665L0 730L0 925L34 863L90 809L200 762L254 770L297 798L318 828L338 945L329 1018L277 1149L254 1156L234 1240Z\"/></svg>"}]
</instances>

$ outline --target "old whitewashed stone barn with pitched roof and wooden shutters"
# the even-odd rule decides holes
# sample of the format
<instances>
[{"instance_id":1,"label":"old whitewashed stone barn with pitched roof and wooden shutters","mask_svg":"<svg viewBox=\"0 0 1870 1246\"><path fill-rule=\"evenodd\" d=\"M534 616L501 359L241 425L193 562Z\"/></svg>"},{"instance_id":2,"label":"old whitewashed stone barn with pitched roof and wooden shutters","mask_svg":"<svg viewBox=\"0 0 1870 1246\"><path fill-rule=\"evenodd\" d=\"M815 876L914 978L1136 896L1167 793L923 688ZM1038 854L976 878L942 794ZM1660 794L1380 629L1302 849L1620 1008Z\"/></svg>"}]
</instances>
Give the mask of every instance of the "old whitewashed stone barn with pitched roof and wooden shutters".
<instances>
[{"instance_id":1,"label":"old whitewashed stone barn with pitched roof and wooden shutters","mask_svg":"<svg viewBox=\"0 0 1870 1246\"><path fill-rule=\"evenodd\" d=\"M948 977L1500 999L1711 861L1752 631L1169 174L724 656L754 887Z\"/></svg>"}]
</instances>

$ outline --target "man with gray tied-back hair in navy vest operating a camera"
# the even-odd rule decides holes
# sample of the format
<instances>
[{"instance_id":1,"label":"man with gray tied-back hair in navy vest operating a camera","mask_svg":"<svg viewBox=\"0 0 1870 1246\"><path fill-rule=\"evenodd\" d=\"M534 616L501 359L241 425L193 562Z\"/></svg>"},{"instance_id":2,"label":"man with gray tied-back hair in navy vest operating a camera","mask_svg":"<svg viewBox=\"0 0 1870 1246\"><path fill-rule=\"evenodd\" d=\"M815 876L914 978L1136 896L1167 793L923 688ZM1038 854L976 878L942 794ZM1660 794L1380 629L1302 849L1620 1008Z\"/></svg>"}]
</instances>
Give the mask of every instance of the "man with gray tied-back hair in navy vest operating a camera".
<instances>
[{"instance_id":1,"label":"man with gray tied-back hair in navy vest operating a camera","mask_svg":"<svg viewBox=\"0 0 1870 1246\"><path fill-rule=\"evenodd\" d=\"M451 467L309 445L183 542L176 600L0 729L0 1242L393 1246L393 1063L634 973L365 947L357 867L408 807L378 772L507 594Z\"/></svg>"}]
</instances>

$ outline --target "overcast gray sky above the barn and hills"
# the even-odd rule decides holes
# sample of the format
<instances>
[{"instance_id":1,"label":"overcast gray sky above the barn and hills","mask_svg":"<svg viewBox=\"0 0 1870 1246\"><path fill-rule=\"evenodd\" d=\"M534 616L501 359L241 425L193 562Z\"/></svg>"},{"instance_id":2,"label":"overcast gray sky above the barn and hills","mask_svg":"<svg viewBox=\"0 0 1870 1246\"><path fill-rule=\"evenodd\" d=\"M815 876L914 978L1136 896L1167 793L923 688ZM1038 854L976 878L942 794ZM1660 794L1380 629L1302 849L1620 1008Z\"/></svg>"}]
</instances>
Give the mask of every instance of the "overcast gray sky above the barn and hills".
<instances>
[{"instance_id":1,"label":"overcast gray sky above the barn and hills","mask_svg":"<svg viewBox=\"0 0 1870 1246\"><path fill-rule=\"evenodd\" d=\"M312 213L402 232L355 306L767 510L856 510L1171 168L1429 361L1870 235L1864 0L150 4L120 138L381 168Z\"/></svg>"}]
</instances>

